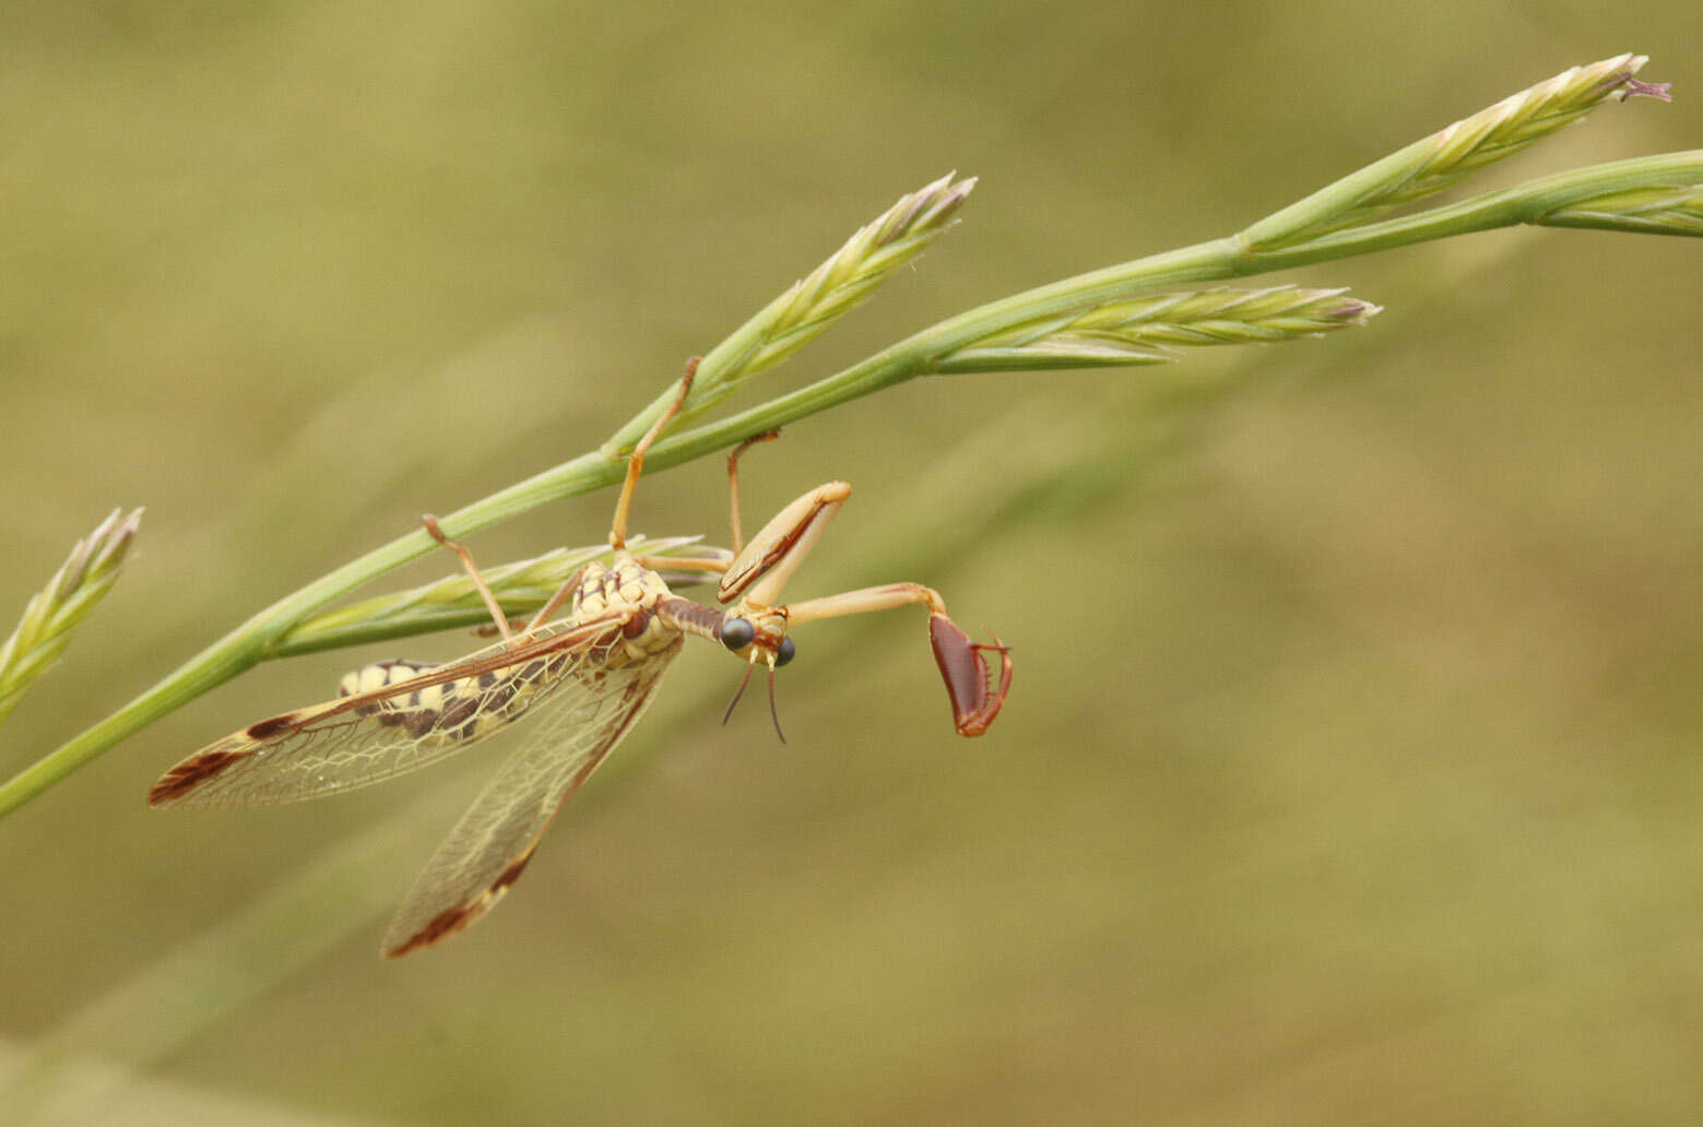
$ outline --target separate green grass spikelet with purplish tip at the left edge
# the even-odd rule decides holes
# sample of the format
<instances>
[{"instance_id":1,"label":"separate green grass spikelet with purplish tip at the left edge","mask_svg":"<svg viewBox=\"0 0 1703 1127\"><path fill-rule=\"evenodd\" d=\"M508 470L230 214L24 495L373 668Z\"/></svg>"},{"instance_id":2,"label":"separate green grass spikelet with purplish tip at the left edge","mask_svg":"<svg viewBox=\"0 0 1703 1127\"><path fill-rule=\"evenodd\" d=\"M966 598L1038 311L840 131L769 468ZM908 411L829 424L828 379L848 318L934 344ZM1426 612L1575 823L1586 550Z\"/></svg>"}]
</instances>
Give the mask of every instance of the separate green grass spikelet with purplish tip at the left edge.
<instances>
[{"instance_id":1,"label":"separate green grass spikelet with purplish tip at the left edge","mask_svg":"<svg viewBox=\"0 0 1703 1127\"><path fill-rule=\"evenodd\" d=\"M141 509L119 514L121 509L112 509L95 531L77 541L46 589L31 596L17 630L0 645L0 720L58 661L72 632L118 581L129 541L141 526Z\"/></svg>"}]
</instances>

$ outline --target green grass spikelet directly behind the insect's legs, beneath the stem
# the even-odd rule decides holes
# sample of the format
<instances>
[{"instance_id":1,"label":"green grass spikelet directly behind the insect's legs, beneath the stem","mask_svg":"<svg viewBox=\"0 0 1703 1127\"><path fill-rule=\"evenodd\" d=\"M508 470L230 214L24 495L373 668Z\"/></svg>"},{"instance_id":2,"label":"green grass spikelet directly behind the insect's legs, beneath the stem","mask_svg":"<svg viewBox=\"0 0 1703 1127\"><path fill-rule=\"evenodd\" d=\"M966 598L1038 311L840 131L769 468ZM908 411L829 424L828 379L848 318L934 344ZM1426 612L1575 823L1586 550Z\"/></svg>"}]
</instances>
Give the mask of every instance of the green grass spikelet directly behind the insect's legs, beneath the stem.
<instances>
[{"instance_id":1,"label":"green grass spikelet directly behind the insect's legs, beneath the stem","mask_svg":"<svg viewBox=\"0 0 1703 1127\"><path fill-rule=\"evenodd\" d=\"M700 545L702 536L664 536L647 540L628 536L627 550L644 557L673 557L679 560L731 562L725 548ZM511 615L535 613L567 582L567 577L589 562L610 565L615 557L608 545L589 548L557 548L531 560L518 560L501 567L480 569L479 574L492 594ZM703 582L707 572L659 569L662 582L671 587ZM267 657L295 657L318 650L405 638L456 626L490 625L490 611L473 591L473 581L463 572L446 575L438 582L395 594L363 599L335 611L324 611L301 621L267 647Z\"/></svg>"}]
</instances>

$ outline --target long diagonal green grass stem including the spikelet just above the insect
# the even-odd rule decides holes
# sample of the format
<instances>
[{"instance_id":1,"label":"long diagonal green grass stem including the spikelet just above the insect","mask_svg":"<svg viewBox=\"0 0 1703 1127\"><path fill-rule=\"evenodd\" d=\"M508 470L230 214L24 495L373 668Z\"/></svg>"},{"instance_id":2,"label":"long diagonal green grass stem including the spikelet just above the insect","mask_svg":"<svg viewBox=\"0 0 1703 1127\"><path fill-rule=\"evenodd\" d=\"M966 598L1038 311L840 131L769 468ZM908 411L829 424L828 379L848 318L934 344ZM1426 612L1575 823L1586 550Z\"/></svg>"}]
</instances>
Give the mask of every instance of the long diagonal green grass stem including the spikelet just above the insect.
<instances>
[{"instance_id":1,"label":"long diagonal green grass stem including the spikelet just above the insect","mask_svg":"<svg viewBox=\"0 0 1703 1127\"><path fill-rule=\"evenodd\" d=\"M1601 97L1608 97L1620 89L1630 89L1630 83L1633 83L1630 75L1637 70L1631 61L1635 58L1618 56L1618 61L1608 60L1596 65L1596 68L1604 70L1596 78L1596 87L1604 87L1601 90L1589 87L1589 94L1579 94L1579 89L1574 85L1560 83L1563 89L1574 90L1577 97L1567 102L1560 112L1551 114L1551 124L1565 124L1575 119L1582 109L1597 104ZM1637 60L1637 65L1642 65L1642 60ZM1613 78L1611 85L1609 78ZM1592 97L1596 100L1591 100ZM1505 109L1507 104L1509 100L1499 102L1497 107L1485 112L1492 116L1502 114L1499 121L1512 119ZM1528 104L1531 104L1531 99L1522 102L1522 106ZM1536 99L1536 104L1553 106L1560 102ZM1528 133L1514 129L1502 136L1497 134L1497 129L1490 128L1482 131L1482 138L1494 141L1500 136L1494 153L1500 157L1505 155L1504 150L1522 148L1550 133L1553 133L1553 128L1528 129ZM1420 145L1434 146L1434 141L1436 138L1427 138ZM1453 182L1454 169L1470 170L1471 167L1482 167L1482 163L1487 163L1485 160L1475 162L1461 153L1490 153L1492 150L1487 148L1490 141L1483 141L1477 148L1466 146L1459 150L1454 163L1449 165L1448 175L1434 167L1431 174L1425 174L1431 179L1427 180L1425 175L1420 175L1419 182L1429 186L1427 191L1434 191L1441 189L1446 180ZM1402 152L1412 157L1412 148ZM651 449L645 470L666 470L710 453L724 451L741 439L799 422L821 410L838 407L921 375L942 373L945 368L952 371L1001 369L1001 358L986 358L988 363L984 366L952 364L949 358L959 354L962 359L962 352L972 349L978 340L993 339L998 334L1012 332L1024 325L1044 322L1046 318L1083 317L1093 310L1104 310L1156 291L1189 289L1202 283L1269 274L1495 228L1519 225L1603 226L1604 223L1584 221L1601 215L1620 215L1623 218L1623 225L1613 230L1676 235L1700 233L1696 225L1688 226L1676 220L1649 221L1650 209L1647 204L1650 199L1666 199L1669 203L1664 206L1672 209L1671 204L1674 199L1693 199L1698 186L1703 184L1703 150L1592 165L1417 215L1369 221L1374 215L1373 203L1388 203L1390 199L1388 192L1379 197L1376 191L1366 191L1379 177L1386 184L1393 182L1391 165L1386 162L1369 165L1323 192L1310 196L1301 204L1274 213L1274 216L1255 223L1240 235L1122 262L978 306L932 325L852 368L804 388L777 395L715 422L685 431L676 427L676 432L666 436ZM1408 182L1412 182L1412 177ZM700 368L700 373L705 376L703 383L695 388L695 395L688 400L688 420L700 415L712 398L729 393L756 369L778 363L804 340L826 329L828 323L852 305L862 301L875 281L891 276L892 266L915 255L945 230L947 220L955 213L971 186L971 180L943 177L920 192L906 196L882 220L860 230L858 235L848 240L846 247L829 259L824 267L812 272L806 283L799 283L794 289L788 289L787 295L777 298L763 313L712 349L705 359L705 366ZM1408 192L1403 196L1403 201L1412 201L1413 197L1415 194ZM1614 208L1620 208L1620 211L1614 211ZM1643 208L1642 213L1640 208ZM1339 223L1344 216L1347 216L1347 226ZM896 250L894 247L901 249ZM838 269L834 264L848 269ZM816 281L812 283L811 279ZM625 472L625 460L618 451L632 441L632 436L649 426L657 403L671 397L674 386L673 376L664 380L657 400L616 431L599 449L543 470L448 514L441 521L444 533L450 536L465 536L552 501L613 485ZM266 657L322 649L313 644L291 645L286 638L291 637L291 632L301 630L305 621L322 613L330 603L385 572L436 550L439 550L436 541L424 529L409 533L259 611L111 717L46 754L5 785L0 785L0 815L41 795L126 735L138 732L201 693L223 684ZM444 618L438 620L436 625L460 623L462 620L451 623Z\"/></svg>"}]
</instances>

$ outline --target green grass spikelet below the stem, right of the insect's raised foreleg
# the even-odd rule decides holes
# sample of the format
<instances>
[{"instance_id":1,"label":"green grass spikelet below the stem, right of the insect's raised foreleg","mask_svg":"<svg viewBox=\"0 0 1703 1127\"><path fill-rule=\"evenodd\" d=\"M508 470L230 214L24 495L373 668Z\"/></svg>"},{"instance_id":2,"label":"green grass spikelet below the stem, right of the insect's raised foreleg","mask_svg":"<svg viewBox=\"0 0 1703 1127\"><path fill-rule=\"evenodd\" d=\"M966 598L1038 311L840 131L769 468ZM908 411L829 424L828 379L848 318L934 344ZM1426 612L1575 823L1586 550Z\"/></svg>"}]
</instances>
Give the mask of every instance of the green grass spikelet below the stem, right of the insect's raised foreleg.
<instances>
[{"instance_id":1,"label":"green grass spikelet below the stem, right of the insect's raised foreleg","mask_svg":"<svg viewBox=\"0 0 1703 1127\"><path fill-rule=\"evenodd\" d=\"M1381 306L1345 289L1197 289L1110 301L1087 313L1015 325L940 358L935 371L1167 364L1172 347L1277 344L1364 325Z\"/></svg>"}]
</instances>

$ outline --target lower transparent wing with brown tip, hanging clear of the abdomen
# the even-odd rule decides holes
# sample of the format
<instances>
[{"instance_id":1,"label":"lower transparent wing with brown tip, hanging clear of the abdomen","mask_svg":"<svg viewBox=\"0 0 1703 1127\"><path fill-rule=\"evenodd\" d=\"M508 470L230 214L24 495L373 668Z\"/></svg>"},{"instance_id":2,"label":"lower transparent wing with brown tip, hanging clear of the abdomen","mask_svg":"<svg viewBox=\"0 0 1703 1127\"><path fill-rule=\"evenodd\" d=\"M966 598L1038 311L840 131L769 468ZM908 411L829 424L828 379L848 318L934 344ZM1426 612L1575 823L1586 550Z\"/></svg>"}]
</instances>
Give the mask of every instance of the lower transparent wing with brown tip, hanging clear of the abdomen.
<instances>
[{"instance_id":1,"label":"lower transparent wing with brown tip, hanging clear of the abdomen","mask_svg":"<svg viewBox=\"0 0 1703 1127\"><path fill-rule=\"evenodd\" d=\"M414 882L385 931L387 957L455 935L509 890L555 812L644 715L679 645L676 638L642 662L591 674L596 691L557 693L540 729L502 764Z\"/></svg>"}]
</instances>

